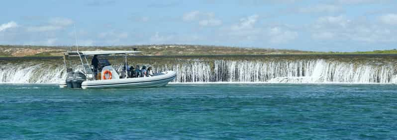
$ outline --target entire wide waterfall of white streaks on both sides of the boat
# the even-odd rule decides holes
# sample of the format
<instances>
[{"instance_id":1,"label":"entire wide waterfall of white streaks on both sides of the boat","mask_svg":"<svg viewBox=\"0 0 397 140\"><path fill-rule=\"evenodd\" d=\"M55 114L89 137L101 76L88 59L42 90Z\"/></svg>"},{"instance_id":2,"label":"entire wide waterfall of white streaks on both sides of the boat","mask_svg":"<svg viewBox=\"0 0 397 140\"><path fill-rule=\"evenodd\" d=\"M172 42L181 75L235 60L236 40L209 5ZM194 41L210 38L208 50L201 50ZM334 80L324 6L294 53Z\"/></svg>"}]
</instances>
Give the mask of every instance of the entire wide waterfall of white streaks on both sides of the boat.
<instances>
[{"instance_id":1,"label":"entire wide waterfall of white streaks on both sides of the boat","mask_svg":"<svg viewBox=\"0 0 397 140\"><path fill-rule=\"evenodd\" d=\"M61 62L0 64L1 83L57 83L66 76ZM396 64L382 59L176 59L151 64L156 72L176 71L173 82L397 83Z\"/></svg>"}]
</instances>

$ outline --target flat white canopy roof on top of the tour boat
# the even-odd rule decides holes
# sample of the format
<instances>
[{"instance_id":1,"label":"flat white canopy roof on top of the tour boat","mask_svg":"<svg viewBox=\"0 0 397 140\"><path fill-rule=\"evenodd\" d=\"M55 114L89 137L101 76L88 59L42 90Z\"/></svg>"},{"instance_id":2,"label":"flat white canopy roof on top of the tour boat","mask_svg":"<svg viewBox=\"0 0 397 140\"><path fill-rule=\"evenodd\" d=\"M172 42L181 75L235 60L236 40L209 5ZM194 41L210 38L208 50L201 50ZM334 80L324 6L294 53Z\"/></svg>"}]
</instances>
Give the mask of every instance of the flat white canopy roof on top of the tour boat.
<instances>
[{"instance_id":1,"label":"flat white canopy roof on top of the tour boat","mask_svg":"<svg viewBox=\"0 0 397 140\"><path fill-rule=\"evenodd\" d=\"M80 51L80 52L64 52L65 55L81 55L81 56L92 56L92 55L126 55L136 54L141 51Z\"/></svg>"}]
</instances>

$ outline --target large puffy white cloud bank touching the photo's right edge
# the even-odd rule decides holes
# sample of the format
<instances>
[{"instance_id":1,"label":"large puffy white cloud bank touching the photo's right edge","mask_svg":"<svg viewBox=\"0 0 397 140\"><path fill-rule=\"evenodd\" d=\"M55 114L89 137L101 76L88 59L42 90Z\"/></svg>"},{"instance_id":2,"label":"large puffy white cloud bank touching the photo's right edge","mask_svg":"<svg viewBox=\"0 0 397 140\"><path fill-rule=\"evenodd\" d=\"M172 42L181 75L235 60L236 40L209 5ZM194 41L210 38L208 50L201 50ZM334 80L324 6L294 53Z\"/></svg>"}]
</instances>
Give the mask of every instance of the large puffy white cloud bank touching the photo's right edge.
<instances>
[{"instance_id":1,"label":"large puffy white cloud bank touching the photo's right edge","mask_svg":"<svg viewBox=\"0 0 397 140\"><path fill-rule=\"evenodd\" d=\"M344 16L325 16L319 17L308 30L311 32L311 37L318 40L397 42L397 30L378 23L368 20L350 20Z\"/></svg>"}]
</instances>

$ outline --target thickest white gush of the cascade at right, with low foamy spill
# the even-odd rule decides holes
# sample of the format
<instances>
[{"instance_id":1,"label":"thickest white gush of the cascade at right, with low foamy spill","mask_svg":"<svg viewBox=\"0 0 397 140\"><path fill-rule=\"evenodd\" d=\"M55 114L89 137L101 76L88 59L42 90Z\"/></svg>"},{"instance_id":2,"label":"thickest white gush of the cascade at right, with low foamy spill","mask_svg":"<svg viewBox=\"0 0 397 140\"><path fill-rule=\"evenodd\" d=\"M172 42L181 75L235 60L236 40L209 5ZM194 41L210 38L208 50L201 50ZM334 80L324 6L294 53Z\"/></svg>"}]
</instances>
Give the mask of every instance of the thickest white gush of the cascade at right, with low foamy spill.
<instances>
[{"instance_id":1,"label":"thickest white gush of the cascade at right, with low foamy spill","mask_svg":"<svg viewBox=\"0 0 397 140\"><path fill-rule=\"evenodd\" d=\"M317 60L311 67L312 74L302 77L281 76L270 82L286 83L396 83L395 66L392 63L380 66Z\"/></svg>"}]
</instances>

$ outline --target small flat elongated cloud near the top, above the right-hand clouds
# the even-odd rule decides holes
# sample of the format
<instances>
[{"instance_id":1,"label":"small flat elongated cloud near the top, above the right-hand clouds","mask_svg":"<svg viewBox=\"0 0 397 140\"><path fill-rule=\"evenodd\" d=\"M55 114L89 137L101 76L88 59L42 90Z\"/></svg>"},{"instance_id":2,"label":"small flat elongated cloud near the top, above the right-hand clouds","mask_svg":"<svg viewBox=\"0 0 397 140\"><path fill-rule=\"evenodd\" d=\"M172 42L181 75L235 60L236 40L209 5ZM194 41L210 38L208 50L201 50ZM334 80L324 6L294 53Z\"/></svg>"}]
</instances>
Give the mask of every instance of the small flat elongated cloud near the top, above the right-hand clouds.
<instances>
[{"instance_id":1,"label":"small flat elongated cloud near the top, above the right-hand clouds","mask_svg":"<svg viewBox=\"0 0 397 140\"><path fill-rule=\"evenodd\" d=\"M338 5L332 4L318 4L309 7L302 7L298 9L298 12L302 13L318 13L318 12L339 12L342 8Z\"/></svg>"}]
</instances>

